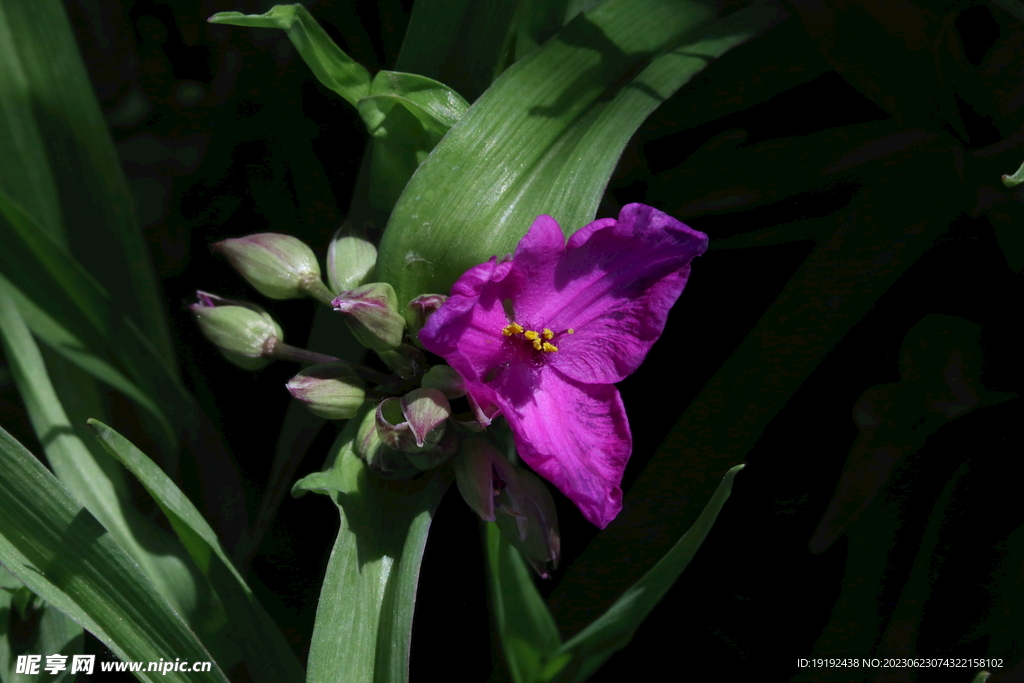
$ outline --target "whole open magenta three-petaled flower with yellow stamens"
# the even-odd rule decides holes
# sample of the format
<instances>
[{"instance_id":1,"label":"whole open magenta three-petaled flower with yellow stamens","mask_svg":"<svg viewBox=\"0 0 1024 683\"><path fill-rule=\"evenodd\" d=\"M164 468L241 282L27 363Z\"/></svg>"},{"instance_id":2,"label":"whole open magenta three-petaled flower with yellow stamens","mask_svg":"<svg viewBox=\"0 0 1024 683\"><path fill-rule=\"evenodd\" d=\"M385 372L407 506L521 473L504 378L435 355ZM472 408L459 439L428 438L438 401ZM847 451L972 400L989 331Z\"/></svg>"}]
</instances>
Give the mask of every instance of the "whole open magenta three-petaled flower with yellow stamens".
<instances>
[{"instance_id":1,"label":"whole open magenta three-petaled flower with yellow stamens","mask_svg":"<svg viewBox=\"0 0 1024 683\"><path fill-rule=\"evenodd\" d=\"M465 380L477 415L505 416L516 449L594 524L622 509L633 447L614 382L633 373L708 237L642 204L565 243L540 216L511 260L467 270L420 340Z\"/></svg>"}]
</instances>

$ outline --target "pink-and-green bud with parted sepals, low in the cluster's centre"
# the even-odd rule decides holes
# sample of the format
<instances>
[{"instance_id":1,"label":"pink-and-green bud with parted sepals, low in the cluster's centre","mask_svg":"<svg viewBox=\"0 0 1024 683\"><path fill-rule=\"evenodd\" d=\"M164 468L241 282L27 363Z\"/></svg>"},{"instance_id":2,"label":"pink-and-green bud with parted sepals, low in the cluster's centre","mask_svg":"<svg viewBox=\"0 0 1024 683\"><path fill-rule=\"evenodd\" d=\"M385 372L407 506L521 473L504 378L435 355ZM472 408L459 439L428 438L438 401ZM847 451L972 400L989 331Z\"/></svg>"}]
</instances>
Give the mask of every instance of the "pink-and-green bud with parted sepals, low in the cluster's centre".
<instances>
[{"instance_id":1,"label":"pink-and-green bud with parted sepals, low in the cluster's centre","mask_svg":"<svg viewBox=\"0 0 1024 683\"><path fill-rule=\"evenodd\" d=\"M414 389L399 398L385 398L377 407L377 434L387 445L407 453L432 451L444 435L452 414L437 389Z\"/></svg>"}]
</instances>

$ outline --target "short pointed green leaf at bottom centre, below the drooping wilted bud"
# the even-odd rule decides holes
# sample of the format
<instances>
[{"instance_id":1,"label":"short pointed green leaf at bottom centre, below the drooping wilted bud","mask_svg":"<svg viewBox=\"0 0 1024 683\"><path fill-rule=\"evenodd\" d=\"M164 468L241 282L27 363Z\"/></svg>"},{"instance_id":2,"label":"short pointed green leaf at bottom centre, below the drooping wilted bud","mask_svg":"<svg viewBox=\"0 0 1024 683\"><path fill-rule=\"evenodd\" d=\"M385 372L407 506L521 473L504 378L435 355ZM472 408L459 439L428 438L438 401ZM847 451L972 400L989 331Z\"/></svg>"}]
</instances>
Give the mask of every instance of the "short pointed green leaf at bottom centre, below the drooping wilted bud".
<instances>
[{"instance_id":1,"label":"short pointed green leaf at bottom centre, below the drooping wilted bud","mask_svg":"<svg viewBox=\"0 0 1024 683\"><path fill-rule=\"evenodd\" d=\"M515 683L550 680L567 656L549 657L562 644L558 626L534 585L522 555L498 524L484 524L493 613Z\"/></svg>"}]
</instances>

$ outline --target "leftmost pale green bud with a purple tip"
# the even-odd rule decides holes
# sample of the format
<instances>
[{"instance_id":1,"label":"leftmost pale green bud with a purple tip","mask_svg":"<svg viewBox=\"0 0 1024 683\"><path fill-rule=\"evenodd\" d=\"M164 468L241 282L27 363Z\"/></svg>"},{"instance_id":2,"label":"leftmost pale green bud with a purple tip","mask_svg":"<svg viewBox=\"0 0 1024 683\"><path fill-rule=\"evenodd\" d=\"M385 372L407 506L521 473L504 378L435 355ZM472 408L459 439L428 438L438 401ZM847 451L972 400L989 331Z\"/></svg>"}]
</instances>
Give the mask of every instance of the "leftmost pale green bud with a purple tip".
<instances>
[{"instance_id":1,"label":"leftmost pale green bud with a purple tip","mask_svg":"<svg viewBox=\"0 0 1024 683\"><path fill-rule=\"evenodd\" d=\"M189 306L200 330L224 356L246 370L258 370L285 338L269 313L245 301L197 292L199 303Z\"/></svg>"}]
</instances>

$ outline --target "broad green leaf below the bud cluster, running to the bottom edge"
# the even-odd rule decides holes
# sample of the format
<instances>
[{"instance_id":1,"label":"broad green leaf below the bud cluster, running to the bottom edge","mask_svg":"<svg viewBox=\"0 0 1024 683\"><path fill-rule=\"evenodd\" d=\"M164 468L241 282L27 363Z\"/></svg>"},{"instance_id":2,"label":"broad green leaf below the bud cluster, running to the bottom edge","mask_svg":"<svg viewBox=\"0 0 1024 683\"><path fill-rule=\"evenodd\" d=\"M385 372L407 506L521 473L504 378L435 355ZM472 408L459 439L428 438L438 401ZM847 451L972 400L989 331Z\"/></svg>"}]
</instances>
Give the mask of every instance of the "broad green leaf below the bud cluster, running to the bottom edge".
<instances>
[{"instance_id":1,"label":"broad green leaf below the bud cluster, running to the bottom edge","mask_svg":"<svg viewBox=\"0 0 1024 683\"><path fill-rule=\"evenodd\" d=\"M438 473L389 481L352 451L362 414L348 421L328 469L296 492L329 495L341 513L316 607L310 683L403 683L420 562L433 512L447 488Z\"/></svg>"}]
</instances>

